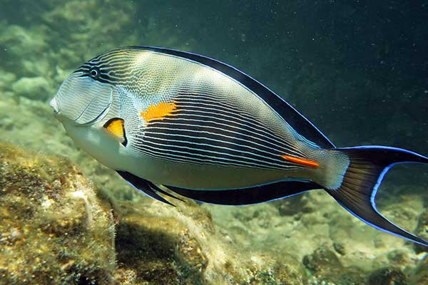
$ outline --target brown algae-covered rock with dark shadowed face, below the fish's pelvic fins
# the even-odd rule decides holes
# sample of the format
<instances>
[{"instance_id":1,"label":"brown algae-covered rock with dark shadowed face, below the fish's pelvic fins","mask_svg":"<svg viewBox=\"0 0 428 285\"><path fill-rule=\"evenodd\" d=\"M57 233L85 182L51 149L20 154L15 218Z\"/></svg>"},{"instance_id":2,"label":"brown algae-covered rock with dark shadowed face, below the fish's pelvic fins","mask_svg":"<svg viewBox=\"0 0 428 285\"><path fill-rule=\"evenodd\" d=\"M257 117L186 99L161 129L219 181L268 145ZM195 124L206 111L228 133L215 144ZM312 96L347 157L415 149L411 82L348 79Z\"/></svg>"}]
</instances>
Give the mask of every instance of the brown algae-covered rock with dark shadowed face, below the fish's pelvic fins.
<instances>
[{"instance_id":1,"label":"brown algae-covered rock with dark shadowed face, below the fish's pelvic fins","mask_svg":"<svg viewBox=\"0 0 428 285\"><path fill-rule=\"evenodd\" d=\"M203 284L208 260L185 224L174 217L149 214L146 209L158 208L155 203L148 202L146 209L126 205L119 211L123 216L115 241L118 279L131 274L133 284ZM140 210L125 209L130 207ZM131 213L123 213L127 211Z\"/></svg>"}]
</instances>

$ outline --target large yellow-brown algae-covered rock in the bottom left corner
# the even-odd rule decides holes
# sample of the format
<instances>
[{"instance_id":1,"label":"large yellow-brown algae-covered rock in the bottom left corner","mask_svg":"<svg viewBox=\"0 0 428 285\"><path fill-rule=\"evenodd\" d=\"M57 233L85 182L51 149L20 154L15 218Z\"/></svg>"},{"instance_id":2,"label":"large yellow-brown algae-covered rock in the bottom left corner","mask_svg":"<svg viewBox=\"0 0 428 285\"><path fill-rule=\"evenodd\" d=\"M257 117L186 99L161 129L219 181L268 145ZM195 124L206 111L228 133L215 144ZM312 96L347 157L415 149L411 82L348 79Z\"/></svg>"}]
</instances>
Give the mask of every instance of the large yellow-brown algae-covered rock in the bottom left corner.
<instances>
[{"instance_id":1,"label":"large yellow-brown algae-covered rock in the bottom left corner","mask_svg":"<svg viewBox=\"0 0 428 285\"><path fill-rule=\"evenodd\" d=\"M0 283L112 284L114 224L81 172L0 142Z\"/></svg>"}]
</instances>

